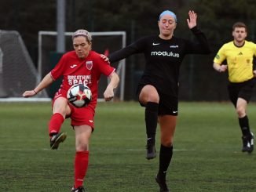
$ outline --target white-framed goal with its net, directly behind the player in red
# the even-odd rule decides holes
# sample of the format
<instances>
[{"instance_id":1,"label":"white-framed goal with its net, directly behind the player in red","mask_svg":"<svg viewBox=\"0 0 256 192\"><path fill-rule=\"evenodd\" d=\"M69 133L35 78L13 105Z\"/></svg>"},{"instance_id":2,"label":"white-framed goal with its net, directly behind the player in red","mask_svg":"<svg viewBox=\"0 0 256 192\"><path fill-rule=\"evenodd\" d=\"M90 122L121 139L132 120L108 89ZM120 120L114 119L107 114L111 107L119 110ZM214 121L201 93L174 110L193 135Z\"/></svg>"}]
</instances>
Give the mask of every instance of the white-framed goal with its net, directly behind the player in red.
<instances>
[{"instance_id":1,"label":"white-framed goal with its net, directly behind the player in red","mask_svg":"<svg viewBox=\"0 0 256 192\"><path fill-rule=\"evenodd\" d=\"M66 50L73 50L71 35L72 32L65 32ZM93 37L93 50L97 53L108 55L115 50L122 49L126 45L126 32L125 31L108 31L108 32L91 32ZM56 53L57 45L57 31L39 31L38 32L38 79L41 79L53 69L60 59L61 54ZM117 74L119 74L120 84L115 90L115 100L123 100L124 88L125 88L125 60L121 60L119 63L112 63L112 67L115 67ZM53 93L57 91L60 82L54 82L53 85L47 90L49 96L53 96ZM103 93L108 85L108 78L101 76L98 89L98 100L103 100Z\"/></svg>"}]
</instances>

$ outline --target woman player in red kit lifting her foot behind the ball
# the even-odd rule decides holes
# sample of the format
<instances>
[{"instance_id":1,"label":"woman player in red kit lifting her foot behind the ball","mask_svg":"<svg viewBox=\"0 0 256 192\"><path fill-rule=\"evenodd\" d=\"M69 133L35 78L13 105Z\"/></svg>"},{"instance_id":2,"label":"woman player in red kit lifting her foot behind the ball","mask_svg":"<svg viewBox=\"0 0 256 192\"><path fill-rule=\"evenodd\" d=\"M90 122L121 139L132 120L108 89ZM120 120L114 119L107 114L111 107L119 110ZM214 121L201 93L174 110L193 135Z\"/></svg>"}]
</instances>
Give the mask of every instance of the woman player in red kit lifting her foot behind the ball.
<instances>
[{"instance_id":1,"label":"woman player in red kit lifting her foot behind the ball","mask_svg":"<svg viewBox=\"0 0 256 192\"><path fill-rule=\"evenodd\" d=\"M97 88L101 74L110 78L104 91L104 99L112 100L114 89L119 84L119 76L115 68L101 59L100 54L91 50L92 38L88 31L78 30L72 36L75 51L65 53L57 66L42 79L35 89L25 91L24 97L35 96L38 92L52 84L57 78L63 77L60 89L53 98L53 115L49 121L50 147L57 149L66 139L66 133L60 132L65 118L71 118L71 126L75 130L75 183L71 192L85 191L83 180L89 162L89 139L94 129L94 114L97 105ZM68 89L75 84L87 85L93 99L87 107L73 107L68 103Z\"/></svg>"}]
</instances>

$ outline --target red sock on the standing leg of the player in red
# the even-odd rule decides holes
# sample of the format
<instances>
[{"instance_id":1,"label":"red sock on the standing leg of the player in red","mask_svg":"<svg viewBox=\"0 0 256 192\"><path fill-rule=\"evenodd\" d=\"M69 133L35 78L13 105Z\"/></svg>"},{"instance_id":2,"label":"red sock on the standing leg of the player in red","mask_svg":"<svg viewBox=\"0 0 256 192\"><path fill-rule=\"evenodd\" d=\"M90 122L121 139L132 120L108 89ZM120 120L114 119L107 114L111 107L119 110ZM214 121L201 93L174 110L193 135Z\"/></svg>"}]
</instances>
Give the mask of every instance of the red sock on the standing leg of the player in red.
<instances>
[{"instance_id":1,"label":"red sock on the standing leg of the player in red","mask_svg":"<svg viewBox=\"0 0 256 192\"><path fill-rule=\"evenodd\" d=\"M89 151L75 153L75 189L82 186L89 163Z\"/></svg>"}]
</instances>

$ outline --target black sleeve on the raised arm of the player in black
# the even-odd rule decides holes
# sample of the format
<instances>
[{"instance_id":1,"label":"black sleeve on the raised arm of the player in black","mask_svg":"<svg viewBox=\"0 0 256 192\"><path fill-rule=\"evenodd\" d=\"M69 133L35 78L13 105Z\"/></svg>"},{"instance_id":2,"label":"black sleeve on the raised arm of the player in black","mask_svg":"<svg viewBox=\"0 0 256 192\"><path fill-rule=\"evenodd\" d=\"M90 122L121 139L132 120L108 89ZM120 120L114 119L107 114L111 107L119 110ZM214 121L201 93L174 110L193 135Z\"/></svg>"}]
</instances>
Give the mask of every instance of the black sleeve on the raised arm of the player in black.
<instances>
[{"instance_id":1,"label":"black sleeve on the raised arm of the player in black","mask_svg":"<svg viewBox=\"0 0 256 192\"><path fill-rule=\"evenodd\" d=\"M187 53L209 54L210 46L206 36L197 27L191 29L192 33L196 36L196 42L188 41Z\"/></svg>"}]
</instances>

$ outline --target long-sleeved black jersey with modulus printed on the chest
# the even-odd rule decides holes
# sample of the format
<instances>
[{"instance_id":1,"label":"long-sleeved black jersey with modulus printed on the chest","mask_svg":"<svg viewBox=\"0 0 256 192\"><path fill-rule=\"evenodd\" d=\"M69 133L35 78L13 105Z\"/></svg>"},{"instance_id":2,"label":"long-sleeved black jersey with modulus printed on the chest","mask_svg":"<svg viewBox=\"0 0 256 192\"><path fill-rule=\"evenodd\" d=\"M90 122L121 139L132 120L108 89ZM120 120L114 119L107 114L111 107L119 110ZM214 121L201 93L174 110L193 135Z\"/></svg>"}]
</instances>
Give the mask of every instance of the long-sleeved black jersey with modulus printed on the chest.
<instances>
[{"instance_id":1,"label":"long-sleeved black jersey with modulus printed on the chest","mask_svg":"<svg viewBox=\"0 0 256 192\"><path fill-rule=\"evenodd\" d=\"M192 32L197 42L176 37L164 40L158 35L148 36L112 53L109 60L115 62L135 53L144 53L146 65L139 84L154 85L159 92L177 97L179 70L185 55L210 53L203 32L196 27L192 28Z\"/></svg>"}]
</instances>

